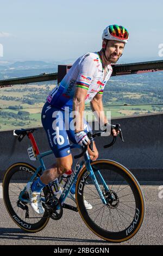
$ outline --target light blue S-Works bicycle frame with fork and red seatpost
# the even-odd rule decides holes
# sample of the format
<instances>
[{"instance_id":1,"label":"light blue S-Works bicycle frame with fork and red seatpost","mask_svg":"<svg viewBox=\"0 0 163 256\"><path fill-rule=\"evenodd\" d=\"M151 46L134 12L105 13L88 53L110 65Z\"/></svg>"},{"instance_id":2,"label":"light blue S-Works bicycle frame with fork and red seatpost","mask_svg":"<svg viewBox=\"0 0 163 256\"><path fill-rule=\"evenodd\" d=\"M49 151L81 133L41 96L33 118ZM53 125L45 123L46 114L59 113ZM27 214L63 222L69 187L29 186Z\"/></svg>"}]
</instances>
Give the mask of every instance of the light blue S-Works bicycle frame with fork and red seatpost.
<instances>
[{"instance_id":1,"label":"light blue S-Works bicycle frame with fork and red seatpost","mask_svg":"<svg viewBox=\"0 0 163 256\"><path fill-rule=\"evenodd\" d=\"M46 152L44 152L44 153L39 153L39 149L37 148L36 142L33 141L33 140L34 140L34 137L33 137L33 135L32 135L32 137L31 137L31 135L32 135L32 134L30 134L30 137L29 137L29 138L30 138L30 140L32 141L33 147L35 146L34 149L35 149L35 152L37 153L37 159L39 160L39 162L40 162L41 165L36 169L36 172L32 175L31 179L29 180L30 182L32 182L32 181L35 179L35 177L36 177L37 174L40 172L40 170L42 170L42 173L46 170L46 167L45 167L45 164L44 164L42 158L45 157L45 156L48 156L48 155L53 154L53 151L52 151L52 150L46 151ZM33 142L35 142L35 143L33 143ZM81 147L80 145L78 145L78 144L72 144L72 145L70 145L70 148L71 148L71 149L75 149L75 148L80 148L80 149L81 149L82 147ZM61 196L60 196L60 198L59 198L59 201L60 201L61 204L64 203L64 201L65 201L65 199L66 199L68 193L69 193L70 190L71 190L72 185L73 185L74 182L77 180L78 174L80 173L80 170L82 170L82 167L83 167L83 164L84 164L84 163L85 163L85 166L86 166L87 171L89 172L89 176L90 176L90 178L92 179L92 182L93 182L93 184L95 185L96 190L97 190L99 196L100 196L101 199L102 199L102 202L103 202L104 204L106 204L106 200L105 200L105 198L104 198L104 196L103 196L103 193L102 193L102 191L101 191L101 188L100 188L99 185L98 185L96 176L95 176L95 174L93 173L93 170L92 170L92 167L91 167L91 159L90 159L90 156L89 156L89 154L87 153L87 151L86 151L86 153L84 154L84 159L81 160L80 162L77 162L75 168L72 170L71 177L70 177L70 179L68 180L68 182L67 182L67 184L66 184L66 186L65 186L65 188L64 188L64 191L62 191ZM103 176L101 175L101 173L99 172L99 170L97 170L97 173L98 173L98 175L99 175L99 178L100 178L101 181L102 181L102 184L103 184L103 186L104 186L104 188L105 188L105 191L109 191L109 188L108 188L108 186L106 185L106 183L105 183L105 181L104 181L104 179L103 179ZM23 199L23 198L22 198L22 195L24 194L25 191L26 191L26 187L25 187L24 190L20 193L19 199L27 202L27 199Z\"/></svg>"}]
</instances>

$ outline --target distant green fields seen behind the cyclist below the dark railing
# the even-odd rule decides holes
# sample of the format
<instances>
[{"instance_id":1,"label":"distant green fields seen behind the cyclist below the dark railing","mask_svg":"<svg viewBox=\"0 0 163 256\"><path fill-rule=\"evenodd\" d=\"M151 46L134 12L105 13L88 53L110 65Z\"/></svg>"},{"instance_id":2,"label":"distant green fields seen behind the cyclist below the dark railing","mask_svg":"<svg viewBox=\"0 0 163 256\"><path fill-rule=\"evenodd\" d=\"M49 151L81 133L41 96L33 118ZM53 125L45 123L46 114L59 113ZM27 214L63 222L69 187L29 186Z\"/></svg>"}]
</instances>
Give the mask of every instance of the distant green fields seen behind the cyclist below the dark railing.
<instances>
[{"instance_id":1,"label":"distant green fields seen behind the cyclist below the dark railing","mask_svg":"<svg viewBox=\"0 0 163 256\"><path fill-rule=\"evenodd\" d=\"M116 80L114 81L116 84ZM124 82L118 81L119 86L124 87ZM6 87L0 89L0 130L14 130L26 127L37 127L41 125L41 109L46 100L48 93L55 87L56 84L48 85L21 85ZM127 86L129 86L127 84ZM111 118L125 117L127 115L139 115L147 113L158 113L163 111L162 106L123 106L126 102L158 102L158 96L153 92L146 92L146 90L140 90L140 92L134 92L135 88L142 86L141 83L130 84L132 92L114 92L110 90L106 92L104 105L122 105L122 106L107 106L104 107L105 112L111 112ZM108 87L109 88L109 87ZM111 88L111 87L110 87ZM126 87L124 87L126 88ZM129 90L129 89L128 89ZM10 99L12 97L12 100ZM142 100L143 97L143 100ZM145 99L145 100L144 100ZM25 103L24 100L32 100L33 103ZM153 100L153 101L152 101ZM10 109L9 109L10 106ZM17 106L17 109L11 109L11 107ZM5 109L4 109L5 108ZM89 109L89 107L86 107ZM19 111L25 111L29 114L27 115L28 120L20 119L18 115ZM12 116L13 115L13 116ZM24 118L26 119L26 117ZM91 111L87 114L87 120L94 120Z\"/></svg>"}]
</instances>

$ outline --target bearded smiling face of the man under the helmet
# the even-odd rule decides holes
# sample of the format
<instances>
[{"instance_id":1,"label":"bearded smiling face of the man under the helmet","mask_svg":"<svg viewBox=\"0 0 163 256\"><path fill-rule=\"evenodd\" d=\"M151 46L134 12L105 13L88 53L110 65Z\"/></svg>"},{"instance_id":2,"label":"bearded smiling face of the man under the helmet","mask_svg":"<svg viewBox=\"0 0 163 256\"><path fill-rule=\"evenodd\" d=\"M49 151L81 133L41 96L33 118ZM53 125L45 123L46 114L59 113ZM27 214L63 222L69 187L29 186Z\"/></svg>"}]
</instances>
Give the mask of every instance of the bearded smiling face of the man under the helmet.
<instances>
[{"instance_id":1,"label":"bearded smiling face of the man under the helmet","mask_svg":"<svg viewBox=\"0 0 163 256\"><path fill-rule=\"evenodd\" d=\"M108 40L105 55L110 63L116 63L124 50L124 42Z\"/></svg>"}]
</instances>

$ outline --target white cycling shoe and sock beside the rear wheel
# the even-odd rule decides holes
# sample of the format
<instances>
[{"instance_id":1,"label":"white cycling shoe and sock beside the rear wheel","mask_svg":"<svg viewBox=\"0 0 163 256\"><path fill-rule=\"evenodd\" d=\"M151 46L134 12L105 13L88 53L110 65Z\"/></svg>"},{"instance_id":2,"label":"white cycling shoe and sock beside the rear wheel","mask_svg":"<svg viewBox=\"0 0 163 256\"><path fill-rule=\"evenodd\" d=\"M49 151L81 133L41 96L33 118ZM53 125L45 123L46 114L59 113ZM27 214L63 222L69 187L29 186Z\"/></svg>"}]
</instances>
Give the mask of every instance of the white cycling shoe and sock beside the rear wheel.
<instances>
[{"instance_id":1,"label":"white cycling shoe and sock beside the rear wheel","mask_svg":"<svg viewBox=\"0 0 163 256\"><path fill-rule=\"evenodd\" d=\"M30 206L37 214L43 214L45 210L41 203L41 192L32 191L32 184L33 182L28 182L26 185L26 189L29 194Z\"/></svg>"}]
</instances>

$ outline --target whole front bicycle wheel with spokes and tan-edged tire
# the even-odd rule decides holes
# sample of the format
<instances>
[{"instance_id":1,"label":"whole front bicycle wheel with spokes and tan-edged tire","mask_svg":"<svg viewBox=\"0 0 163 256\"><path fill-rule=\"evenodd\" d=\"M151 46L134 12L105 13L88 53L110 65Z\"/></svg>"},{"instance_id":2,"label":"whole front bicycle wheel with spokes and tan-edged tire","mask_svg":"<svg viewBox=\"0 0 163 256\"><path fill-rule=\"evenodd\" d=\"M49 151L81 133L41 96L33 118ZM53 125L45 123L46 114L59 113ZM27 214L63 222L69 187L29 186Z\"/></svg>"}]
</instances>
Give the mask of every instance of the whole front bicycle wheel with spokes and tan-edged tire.
<instances>
[{"instance_id":1,"label":"whole front bicycle wheel with spokes and tan-edged tire","mask_svg":"<svg viewBox=\"0 0 163 256\"><path fill-rule=\"evenodd\" d=\"M139 183L126 167L115 161L97 160L91 167L106 204L85 167L76 184L80 216L87 227L104 240L122 242L130 239L145 217L145 200ZM86 210L84 200L92 209Z\"/></svg>"}]
</instances>

